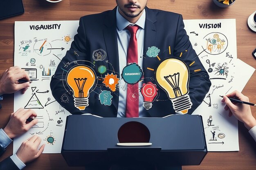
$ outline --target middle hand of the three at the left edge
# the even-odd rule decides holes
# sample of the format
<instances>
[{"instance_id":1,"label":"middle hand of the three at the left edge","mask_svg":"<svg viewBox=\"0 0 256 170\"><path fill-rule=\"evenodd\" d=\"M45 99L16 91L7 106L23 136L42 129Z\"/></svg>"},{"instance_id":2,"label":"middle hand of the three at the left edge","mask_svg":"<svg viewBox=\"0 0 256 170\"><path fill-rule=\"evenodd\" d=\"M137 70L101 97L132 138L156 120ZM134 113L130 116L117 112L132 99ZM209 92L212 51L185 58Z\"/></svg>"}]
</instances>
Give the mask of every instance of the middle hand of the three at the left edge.
<instances>
[{"instance_id":1,"label":"middle hand of the three at the left edge","mask_svg":"<svg viewBox=\"0 0 256 170\"><path fill-rule=\"evenodd\" d=\"M28 122L30 116L36 117L36 112L31 109L20 108L15 113L11 113L10 120L3 129L9 138L22 135L27 132L32 126L37 124L38 119Z\"/></svg>"}]
</instances>

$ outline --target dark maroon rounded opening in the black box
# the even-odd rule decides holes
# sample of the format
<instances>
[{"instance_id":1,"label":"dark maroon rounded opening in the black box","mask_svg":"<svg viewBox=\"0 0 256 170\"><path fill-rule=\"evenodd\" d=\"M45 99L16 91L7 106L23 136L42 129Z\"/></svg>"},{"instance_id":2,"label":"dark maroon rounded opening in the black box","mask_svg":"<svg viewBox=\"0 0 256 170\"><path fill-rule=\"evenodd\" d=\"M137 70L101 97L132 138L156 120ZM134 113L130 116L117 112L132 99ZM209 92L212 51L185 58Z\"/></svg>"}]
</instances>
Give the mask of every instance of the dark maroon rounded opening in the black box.
<instances>
[{"instance_id":1,"label":"dark maroon rounded opening in the black box","mask_svg":"<svg viewBox=\"0 0 256 170\"><path fill-rule=\"evenodd\" d=\"M148 143L150 132L144 124L129 121L119 128L117 137L119 143Z\"/></svg>"}]
</instances>

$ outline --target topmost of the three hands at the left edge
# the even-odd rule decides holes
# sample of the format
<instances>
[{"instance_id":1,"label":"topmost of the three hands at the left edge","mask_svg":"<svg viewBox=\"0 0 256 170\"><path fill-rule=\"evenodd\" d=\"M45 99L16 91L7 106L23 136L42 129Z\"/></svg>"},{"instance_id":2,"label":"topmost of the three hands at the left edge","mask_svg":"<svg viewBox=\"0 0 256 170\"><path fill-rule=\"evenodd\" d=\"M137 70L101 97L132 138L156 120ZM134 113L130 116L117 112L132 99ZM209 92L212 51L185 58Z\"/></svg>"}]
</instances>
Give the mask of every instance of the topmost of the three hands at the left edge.
<instances>
[{"instance_id":1,"label":"topmost of the three hands at the left edge","mask_svg":"<svg viewBox=\"0 0 256 170\"><path fill-rule=\"evenodd\" d=\"M22 93L25 93L29 87L29 82L20 84L19 79L30 80L27 72L18 66L7 69L0 79L0 95L14 93L21 89Z\"/></svg>"}]
</instances>

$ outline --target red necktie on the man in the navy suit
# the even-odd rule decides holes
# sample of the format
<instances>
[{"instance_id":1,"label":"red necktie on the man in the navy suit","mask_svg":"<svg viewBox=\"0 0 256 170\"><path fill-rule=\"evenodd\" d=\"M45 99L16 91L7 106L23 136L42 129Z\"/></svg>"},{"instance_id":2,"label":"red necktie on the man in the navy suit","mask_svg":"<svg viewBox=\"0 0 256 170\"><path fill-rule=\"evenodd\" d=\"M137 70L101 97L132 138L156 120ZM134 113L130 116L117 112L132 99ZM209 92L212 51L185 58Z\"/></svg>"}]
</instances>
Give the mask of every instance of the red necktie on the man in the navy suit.
<instances>
[{"instance_id":1,"label":"red necktie on the man in the navy suit","mask_svg":"<svg viewBox=\"0 0 256 170\"><path fill-rule=\"evenodd\" d=\"M126 29L130 32L130 41L127 50L127 64L138 64L138 45L136 33L139 26L127 26ZM139 84L127 85L127 97L126 97L126 117L139 117Z\"/></svg>"}]
</instances>

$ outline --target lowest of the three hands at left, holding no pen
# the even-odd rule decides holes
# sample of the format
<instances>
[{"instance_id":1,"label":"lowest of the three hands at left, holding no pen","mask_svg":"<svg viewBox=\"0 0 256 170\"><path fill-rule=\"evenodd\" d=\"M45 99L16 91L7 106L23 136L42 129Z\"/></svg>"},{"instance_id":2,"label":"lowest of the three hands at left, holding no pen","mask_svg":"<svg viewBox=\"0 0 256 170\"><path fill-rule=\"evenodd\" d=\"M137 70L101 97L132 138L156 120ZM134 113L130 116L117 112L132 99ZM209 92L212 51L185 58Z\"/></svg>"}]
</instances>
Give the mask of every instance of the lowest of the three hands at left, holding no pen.
<instances>
[{"instance_id":1,"label":"lowest of the three hands at left, holding no pen","mask_svg":"<svg viewBox=\"0 0 256 170\"><path fill-rule=\"evenodd\" d=\"M42 139L40 137L34 135L22 142L20 148L16 153L20 161L22 161L23 163L28 163L38 158L45 148L45 144L43 144L39 150L37 149L41 141Z\"/></svg>"}]
</instances>

